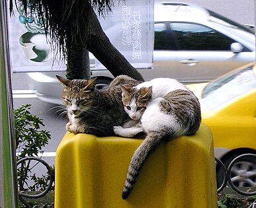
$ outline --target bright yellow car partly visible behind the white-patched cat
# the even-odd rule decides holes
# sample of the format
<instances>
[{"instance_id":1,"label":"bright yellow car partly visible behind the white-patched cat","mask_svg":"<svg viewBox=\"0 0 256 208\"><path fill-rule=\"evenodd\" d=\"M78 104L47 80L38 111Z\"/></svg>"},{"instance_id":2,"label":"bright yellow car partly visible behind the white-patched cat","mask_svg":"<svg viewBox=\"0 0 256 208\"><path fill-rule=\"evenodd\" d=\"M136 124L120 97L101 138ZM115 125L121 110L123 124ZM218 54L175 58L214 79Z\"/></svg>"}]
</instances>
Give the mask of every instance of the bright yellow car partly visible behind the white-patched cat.
<instances>
[{"instance_id":1,"label":"bright yellow car partly visible behind the white-patched cat","mask_svg":"<svg viewBox=\"0 0 256 208\"><path fill-rule=\"evenodd\" d=\"M225 166L239 155L256 154L256 65L250 63L210 83L187 85L198 96L202 122L210 127L214 154ZM217 182L223 170L216 168ZM244 157L231 170L237 187L256 186L256 160ZM220 183L220 181L218 182Z\"/></svg>"}]
</instances>

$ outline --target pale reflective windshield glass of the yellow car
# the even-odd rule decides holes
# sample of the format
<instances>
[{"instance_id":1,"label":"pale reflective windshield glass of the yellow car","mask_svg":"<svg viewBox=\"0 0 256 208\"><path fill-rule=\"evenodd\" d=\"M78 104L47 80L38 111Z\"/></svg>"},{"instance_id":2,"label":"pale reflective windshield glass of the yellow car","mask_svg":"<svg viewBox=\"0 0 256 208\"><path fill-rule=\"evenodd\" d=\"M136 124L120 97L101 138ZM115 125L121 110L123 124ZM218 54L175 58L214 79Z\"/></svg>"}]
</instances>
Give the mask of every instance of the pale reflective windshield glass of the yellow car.
<instances>
[{"instance_id":1,"label":"pale reflective windshield glass of the yellow car","mask_svg":"<svg viewBox=\"0 0 256 208\"><path fill-rule=\"evenodd\" d=\"M255 87L256 77L253 73L253 66L251 66L206 85L202 91L202 100L212 110Z\"/></svg>"}]
</instances>

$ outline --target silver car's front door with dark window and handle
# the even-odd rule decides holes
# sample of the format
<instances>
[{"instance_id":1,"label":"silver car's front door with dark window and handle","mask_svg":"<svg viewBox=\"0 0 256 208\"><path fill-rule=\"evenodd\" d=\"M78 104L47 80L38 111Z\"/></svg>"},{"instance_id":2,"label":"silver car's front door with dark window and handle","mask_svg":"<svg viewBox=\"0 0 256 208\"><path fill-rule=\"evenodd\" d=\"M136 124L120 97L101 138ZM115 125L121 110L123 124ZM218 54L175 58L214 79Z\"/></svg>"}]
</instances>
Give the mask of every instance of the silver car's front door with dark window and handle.
<instances>
[{"instance_id":1,"label":"silver car's front door with dark window and handle","mask_svg":"<svg viewBox=\"0 0 256 208\"><path fill-rule=\"evenodd\" d=\"M193 22L170 22L170 27L177 41L175 58L179 81L210 81L253 61L255 56L245 47L242 52L232 52L231 44L235 40L208 26ZM251 56L251 60L248 56Z\"/></svg>"}]
</instances>

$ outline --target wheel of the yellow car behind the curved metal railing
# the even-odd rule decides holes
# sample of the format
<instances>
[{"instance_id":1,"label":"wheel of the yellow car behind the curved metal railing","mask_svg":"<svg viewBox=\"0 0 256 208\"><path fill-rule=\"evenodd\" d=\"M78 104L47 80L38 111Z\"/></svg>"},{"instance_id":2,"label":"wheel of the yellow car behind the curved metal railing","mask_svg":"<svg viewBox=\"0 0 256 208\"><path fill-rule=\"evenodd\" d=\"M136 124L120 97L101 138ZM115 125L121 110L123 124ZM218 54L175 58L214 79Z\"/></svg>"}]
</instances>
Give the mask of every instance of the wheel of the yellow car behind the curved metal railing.
<instances>
[{"instance_id":1,"label":"wheel of the yellow car behind the curved metal railing","mask_svg":"<svg viewBox=\"0 0 256 208\"><path fill-rule=\"evenodd\" d=\"M222 160L224 166L228 169L230 162L237 156L242 154L234 154ZM222 186L224 182L226 170L220 165L216 166L217 188ZM235 162L230 169L230 181L235 187L256 187L256 160L251 156L242 156Z\"/></svg>"}]
</instances>

